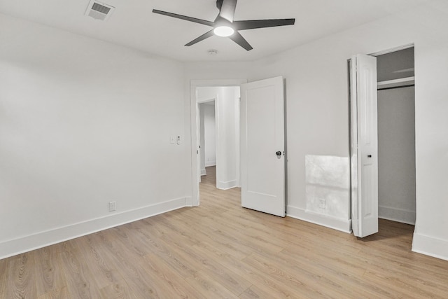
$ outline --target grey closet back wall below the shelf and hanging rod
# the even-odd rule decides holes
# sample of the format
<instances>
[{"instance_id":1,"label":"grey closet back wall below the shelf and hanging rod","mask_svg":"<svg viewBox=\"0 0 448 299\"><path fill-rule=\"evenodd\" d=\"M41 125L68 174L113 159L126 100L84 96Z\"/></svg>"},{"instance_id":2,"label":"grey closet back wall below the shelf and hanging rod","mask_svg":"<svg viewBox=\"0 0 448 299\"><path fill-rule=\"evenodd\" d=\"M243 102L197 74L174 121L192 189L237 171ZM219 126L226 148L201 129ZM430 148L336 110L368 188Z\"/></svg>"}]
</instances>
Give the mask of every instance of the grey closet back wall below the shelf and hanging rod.
<instances>
[{"instance_id":1,"label":"grey closet back wall below the shelf and hanging rod","mask_svg":"<svg viewBox=\"0 0 448 299\"><path fill-rule=\"evenodd\" d=\"M378 216L415 224L414 88L378 90Z\"/></svg>"}]
</instances>

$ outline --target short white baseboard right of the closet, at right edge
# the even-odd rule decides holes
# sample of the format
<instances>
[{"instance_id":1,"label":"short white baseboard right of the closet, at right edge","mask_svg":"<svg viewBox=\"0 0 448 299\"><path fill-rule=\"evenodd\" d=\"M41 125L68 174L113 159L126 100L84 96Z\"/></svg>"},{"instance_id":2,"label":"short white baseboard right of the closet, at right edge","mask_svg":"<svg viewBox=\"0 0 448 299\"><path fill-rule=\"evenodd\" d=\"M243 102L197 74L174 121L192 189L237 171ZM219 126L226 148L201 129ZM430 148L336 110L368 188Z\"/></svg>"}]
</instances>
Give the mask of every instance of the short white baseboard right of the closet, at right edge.
<instances>
[{"instance_id":1,"label":"short white baseboard right of the closet, at right edge","mask_svg":"<svg viewBox=\"0 0 448 299\"><path fill-rule=\"evenodd\" d=\"M412 238L412 251L433 256L442 260L448 260L448 240L437 239L414 232Z\"/></svg>"}]
</instances>

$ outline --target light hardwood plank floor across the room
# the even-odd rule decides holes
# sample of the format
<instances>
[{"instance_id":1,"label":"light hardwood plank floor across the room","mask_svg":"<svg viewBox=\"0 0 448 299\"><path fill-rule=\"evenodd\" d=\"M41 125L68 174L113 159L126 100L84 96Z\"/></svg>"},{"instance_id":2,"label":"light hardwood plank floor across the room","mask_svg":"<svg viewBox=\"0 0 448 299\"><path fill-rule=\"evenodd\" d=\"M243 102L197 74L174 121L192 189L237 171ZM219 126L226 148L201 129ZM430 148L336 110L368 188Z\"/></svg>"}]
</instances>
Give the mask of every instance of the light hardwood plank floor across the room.
<instances>
[{"instance_id":1,"label":"light hardwood plank floor across the room","mask_svg":"<svg viewBox=\"0 0 448 299\"><path fill-rule=\"evenodd\" d=\"M0 298L448 298L412 225L353 235L240 207L202 176L183 208L0 260Z\"/></svg>"}]
</instances>

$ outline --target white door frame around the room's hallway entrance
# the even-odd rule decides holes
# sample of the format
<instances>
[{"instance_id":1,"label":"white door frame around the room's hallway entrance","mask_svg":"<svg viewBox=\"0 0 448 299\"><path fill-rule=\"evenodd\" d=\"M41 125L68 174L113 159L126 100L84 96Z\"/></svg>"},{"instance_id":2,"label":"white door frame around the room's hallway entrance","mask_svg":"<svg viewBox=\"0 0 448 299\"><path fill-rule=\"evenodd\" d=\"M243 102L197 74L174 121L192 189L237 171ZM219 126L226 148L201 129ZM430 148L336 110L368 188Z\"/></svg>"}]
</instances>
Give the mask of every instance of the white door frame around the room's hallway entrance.
<instances>
[{"instance_id":1,"label":"white door frame around the room's hallway entrance","mask_svg":"<svg viewBox=\"0 0 448 299\"><path fill-rule=\"evenodd\" d=\"M198 148L197 148L197 88L214 86L240 86L247 83L247 79L209 79L190 81L190 133L191 133L191 200L187 206L197 207L200 204L199 176L197 173ZM199 175L199 176L198 176Z\"/></svg>"}]
</instances>

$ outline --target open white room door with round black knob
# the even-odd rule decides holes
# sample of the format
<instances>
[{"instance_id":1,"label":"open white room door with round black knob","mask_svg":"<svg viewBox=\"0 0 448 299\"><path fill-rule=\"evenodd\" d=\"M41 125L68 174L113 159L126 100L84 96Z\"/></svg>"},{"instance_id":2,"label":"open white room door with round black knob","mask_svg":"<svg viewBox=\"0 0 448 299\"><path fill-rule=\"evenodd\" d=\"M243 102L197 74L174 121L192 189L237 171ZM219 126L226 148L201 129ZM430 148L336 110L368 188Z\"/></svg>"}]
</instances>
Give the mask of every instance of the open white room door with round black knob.
<instances>
[{"instance_id":1,"label":"open white room door with round black knob","mask_svg":"<svg viewBox=\"0 0 448 299\"><path fill-rule=\"evenodd\" d=\"M283 78L241 85L241 206L285 216Z\"/></svg>"}]
</instances>

